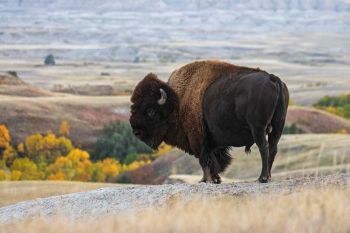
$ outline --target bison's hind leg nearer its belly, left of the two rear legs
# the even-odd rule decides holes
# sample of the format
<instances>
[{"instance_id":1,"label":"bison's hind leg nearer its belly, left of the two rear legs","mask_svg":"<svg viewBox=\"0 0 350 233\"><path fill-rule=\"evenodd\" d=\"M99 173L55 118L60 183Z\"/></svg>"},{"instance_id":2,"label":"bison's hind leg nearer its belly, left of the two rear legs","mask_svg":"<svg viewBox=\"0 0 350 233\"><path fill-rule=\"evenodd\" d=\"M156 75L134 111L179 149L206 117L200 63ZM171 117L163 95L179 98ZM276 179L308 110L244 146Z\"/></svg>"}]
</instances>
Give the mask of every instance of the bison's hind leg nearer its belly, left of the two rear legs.
<instances>
[{"instance_id":1,"label":"bison's hind leg nearer its belly, left of the two rear legs","mask_svg":"<svg viewBox=\"0 0 350 233\"><path fill-rule=\"evenodd\" d=\"M261 174L259 177L260 183L267 183L270 177L269 168L269 143L266 140L265 129L253 129L253 137L256 145L259 147L261 156Z\"/></svg>"}]
</instances>

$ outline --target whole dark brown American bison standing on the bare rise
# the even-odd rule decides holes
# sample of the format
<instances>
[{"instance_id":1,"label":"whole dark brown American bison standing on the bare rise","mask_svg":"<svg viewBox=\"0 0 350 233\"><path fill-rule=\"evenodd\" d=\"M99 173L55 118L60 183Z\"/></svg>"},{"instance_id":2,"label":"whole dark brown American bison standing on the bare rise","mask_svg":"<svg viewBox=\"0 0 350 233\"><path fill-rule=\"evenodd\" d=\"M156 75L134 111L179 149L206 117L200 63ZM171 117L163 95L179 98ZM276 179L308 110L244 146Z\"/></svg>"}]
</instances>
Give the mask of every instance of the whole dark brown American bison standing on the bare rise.
<instances>
[{"instance_id":1,"label":"whole dark brown American bison standing on the bare rise","mask_svg":"<svg viewBox=\"0 0 350 233\"><path fill-rule=\"evenodd\" d=\"M230 147L259 147L260 182L271 179L289 101L287 86L260 69L198 61L168 82L148 74L131 97L134 134L152 148L162 142L199 159L203 182L221 183ZM268 138L268 139L267 139Z\"/></svg>"}]
</instances>

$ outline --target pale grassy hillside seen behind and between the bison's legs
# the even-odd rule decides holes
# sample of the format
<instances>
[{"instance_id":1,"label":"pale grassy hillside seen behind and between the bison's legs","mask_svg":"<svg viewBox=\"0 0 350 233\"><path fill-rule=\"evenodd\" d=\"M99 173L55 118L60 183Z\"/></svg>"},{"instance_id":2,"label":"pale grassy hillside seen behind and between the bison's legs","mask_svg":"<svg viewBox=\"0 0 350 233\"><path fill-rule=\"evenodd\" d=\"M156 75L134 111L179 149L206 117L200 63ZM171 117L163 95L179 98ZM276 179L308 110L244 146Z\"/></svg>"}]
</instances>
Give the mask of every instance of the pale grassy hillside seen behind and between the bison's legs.
<instances>
[{"instance_id":1,"label":"pale grassy hillside seen behind and between the bison's legs","mask_svg":"<svg viewBox=\"0 0 350 233\"><path fill-rule=\"evenodd\" d=\"M272 169L272 179L350 171L350 135L284 135ZM233 162L223 174L231 180L256 180L260 174L260 155L256 146L246 155L243 148L233 148ZM179 176L181 175L181 176ZM197 179L191 176L195 175ZM202 170L193 156L175 149L171 153L134 171L123 180L140 184L162 184L200 180Z\"/></svg>"}]
</instances>

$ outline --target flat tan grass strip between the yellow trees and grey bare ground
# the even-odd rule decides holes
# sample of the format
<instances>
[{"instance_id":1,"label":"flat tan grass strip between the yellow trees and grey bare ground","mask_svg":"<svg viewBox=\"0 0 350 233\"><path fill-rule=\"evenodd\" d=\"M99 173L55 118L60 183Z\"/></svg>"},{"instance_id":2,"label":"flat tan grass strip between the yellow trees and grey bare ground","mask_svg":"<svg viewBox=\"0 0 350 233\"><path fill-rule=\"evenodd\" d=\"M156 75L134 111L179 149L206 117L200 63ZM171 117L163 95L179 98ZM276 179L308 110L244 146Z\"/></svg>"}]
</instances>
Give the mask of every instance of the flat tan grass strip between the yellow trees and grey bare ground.
<instances>
[{"instance_id":1,"label":"flat tan grass strip between the yellow trees and grey bare ground","mask_svg":"<svg viewBox=\"0 0 350 233\"><path fill-rule=\"evenodd\" d=\"M0 207L20 201L83 192L115 185L69 181L3 181L0 182Z\"/></svg>"}]
</instances>

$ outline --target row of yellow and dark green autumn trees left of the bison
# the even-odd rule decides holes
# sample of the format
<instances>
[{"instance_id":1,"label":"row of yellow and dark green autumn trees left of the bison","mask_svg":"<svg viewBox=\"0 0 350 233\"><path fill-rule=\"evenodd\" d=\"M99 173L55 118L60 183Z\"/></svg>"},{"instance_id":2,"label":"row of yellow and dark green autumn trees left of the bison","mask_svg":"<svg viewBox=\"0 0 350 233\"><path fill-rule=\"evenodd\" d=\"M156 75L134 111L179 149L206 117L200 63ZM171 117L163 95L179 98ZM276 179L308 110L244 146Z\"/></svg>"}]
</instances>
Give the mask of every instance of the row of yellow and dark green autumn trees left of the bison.
<instances>
[{"instance_id":1,"label":"row of yellow and dark green autumn trees left of the bison","mask_svg":"<svg viewBox=\"0 0 350 233\"><path fill-rule=\"evenodd\" d=\"M123 172L149 164L171 149L162 144L153 152L123 122L106 125L91 154L75 147L69 133L69 124L63 121L58 135L36 133L14 145L8 128L0 125L0 180L115 182Z\"/></svg>"}]
</instances>

